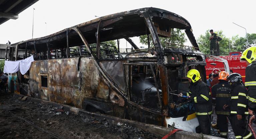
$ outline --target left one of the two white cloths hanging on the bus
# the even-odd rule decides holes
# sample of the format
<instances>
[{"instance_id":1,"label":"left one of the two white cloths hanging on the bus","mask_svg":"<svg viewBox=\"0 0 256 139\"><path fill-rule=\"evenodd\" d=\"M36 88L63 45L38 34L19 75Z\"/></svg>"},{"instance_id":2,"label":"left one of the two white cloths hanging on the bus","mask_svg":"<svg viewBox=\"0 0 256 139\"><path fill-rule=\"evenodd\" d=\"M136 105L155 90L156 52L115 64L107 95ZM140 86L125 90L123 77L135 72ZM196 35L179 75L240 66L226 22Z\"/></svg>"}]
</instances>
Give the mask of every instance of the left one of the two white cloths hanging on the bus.
<instances>
[{"instance_id":1,"label":"left one of the two white cloths hanging on the bus","mask_svg":"<svg viewBox=\"0 0 256 139\"><path fill-rule=\"evenodd\" d=\"M4 62L4 72L6 73L15 73L19 71L19 64L21 60L19 61L5 61Z\"/></svg>"}]
</instances>

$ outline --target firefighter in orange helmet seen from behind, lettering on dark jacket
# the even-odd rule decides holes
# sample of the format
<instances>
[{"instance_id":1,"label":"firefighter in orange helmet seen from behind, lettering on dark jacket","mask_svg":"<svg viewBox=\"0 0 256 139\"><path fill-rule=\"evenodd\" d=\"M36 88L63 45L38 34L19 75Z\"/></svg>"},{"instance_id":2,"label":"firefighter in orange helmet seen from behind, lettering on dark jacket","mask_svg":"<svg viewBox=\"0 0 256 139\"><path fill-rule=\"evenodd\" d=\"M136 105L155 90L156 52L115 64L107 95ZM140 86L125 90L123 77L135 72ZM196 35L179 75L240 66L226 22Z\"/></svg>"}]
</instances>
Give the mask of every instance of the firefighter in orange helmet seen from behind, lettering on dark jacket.
<instances>
[{"instance_id":1,"label":"firefighter in orange helmet seen from behind, lettering on dark jacket","mask_svg":"<svg viewBox=\"0 0 256 139\"><path fill-rule=\"evenodd\" d=\"M228 83L228 72L221 71L218 79L219 83L213 85L212 93L216 94L215 112L217 114L217 123L220 131L220 137L228 138L228 120L230 113L231 85Z\"/></svg>"}]
</instances>

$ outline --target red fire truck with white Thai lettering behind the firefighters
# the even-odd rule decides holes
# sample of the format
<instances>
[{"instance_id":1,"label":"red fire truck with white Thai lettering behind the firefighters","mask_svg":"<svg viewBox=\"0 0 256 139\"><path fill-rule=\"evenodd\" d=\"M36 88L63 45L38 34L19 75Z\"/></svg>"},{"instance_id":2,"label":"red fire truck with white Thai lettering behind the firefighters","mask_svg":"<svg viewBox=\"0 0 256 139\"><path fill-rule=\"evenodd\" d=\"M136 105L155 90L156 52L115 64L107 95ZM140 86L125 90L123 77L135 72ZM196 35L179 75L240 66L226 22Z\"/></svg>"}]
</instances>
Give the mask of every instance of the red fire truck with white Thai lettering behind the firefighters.
<instances>
[{"instance_id":1,"label":"red fire truck with white Thai lettering behind the firefighters","mask_svg":"<svg viewBox=\"0 0 256 139\"><path fill-rule=\"evenodd\" d=\"M222 56L219 56L219 58L206 58L206 76L207 79L209 78L208 75L212 72L213 69L217 68L221 71L225 71L225 67L223 62L218 62L221 61L220 58L226 60L229 65L229 70L233 70L233 73L239 73L242 75L243 82L245 81L245 68L246 68L246 63L245 62L240 62L240 57L242 55L242 52L230 52L230 53L225 53L221 54ZM215 61L217 60L217 61Z\"/></svg>"}]
</instances>

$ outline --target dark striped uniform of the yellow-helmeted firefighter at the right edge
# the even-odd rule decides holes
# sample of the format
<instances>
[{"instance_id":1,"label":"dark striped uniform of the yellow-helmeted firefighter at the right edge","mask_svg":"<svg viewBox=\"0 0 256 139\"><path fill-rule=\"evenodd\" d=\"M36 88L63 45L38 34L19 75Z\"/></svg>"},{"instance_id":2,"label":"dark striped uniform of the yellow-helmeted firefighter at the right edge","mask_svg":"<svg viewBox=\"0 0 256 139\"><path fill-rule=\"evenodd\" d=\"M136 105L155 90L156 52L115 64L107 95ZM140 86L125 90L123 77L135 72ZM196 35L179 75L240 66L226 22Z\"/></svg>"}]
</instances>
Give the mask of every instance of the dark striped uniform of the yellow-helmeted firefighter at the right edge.
<instances>
[{"instance_id":1,"label":"dark striped uniform of the yellow-helmeted firefighter at the right edge","mask_svg":"<svg viewBox=\"0 0 256 139\"><path fill-rule=\"evenodd\" d=\"M245 69L245 87L248 88L249 109L256 110L256 62Z\"/></svg>"}]
</instances>

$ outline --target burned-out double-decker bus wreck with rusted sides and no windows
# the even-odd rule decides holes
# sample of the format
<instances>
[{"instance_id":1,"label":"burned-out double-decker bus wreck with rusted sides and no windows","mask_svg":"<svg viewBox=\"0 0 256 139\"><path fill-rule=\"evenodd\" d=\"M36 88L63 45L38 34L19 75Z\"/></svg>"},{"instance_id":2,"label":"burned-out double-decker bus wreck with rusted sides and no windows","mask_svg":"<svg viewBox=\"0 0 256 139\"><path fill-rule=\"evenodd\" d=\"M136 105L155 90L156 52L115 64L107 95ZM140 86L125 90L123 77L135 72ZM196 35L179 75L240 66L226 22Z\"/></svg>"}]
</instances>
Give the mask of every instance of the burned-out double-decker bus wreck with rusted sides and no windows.
<instances>
[{"instance_id":1,"label":"burned-out double-decker bus wreck with rusted sides and no windows","mask_svg":"<svg viewBox=\"0 0 256 139\"><path fill-rule=\"evenodd\" d=\"M170 38L173 29L185 30L192 47L163 47L159 38ZM132 41L142 35L148 49ZM133 50L120 53L120 39ZM117 47L106 43L113 40ZM190 69L206 81L205 57L189 22L177 14L152 7L116 13L6 49L9 61L30 56L35 61L27 73L9 74L9 91L189 132L199 126L192 103L173 95L188 91Z\"/></svg>"}]
</instances>

